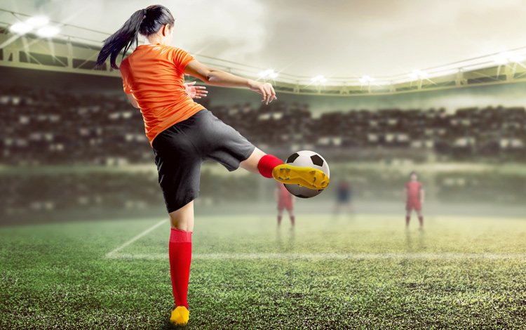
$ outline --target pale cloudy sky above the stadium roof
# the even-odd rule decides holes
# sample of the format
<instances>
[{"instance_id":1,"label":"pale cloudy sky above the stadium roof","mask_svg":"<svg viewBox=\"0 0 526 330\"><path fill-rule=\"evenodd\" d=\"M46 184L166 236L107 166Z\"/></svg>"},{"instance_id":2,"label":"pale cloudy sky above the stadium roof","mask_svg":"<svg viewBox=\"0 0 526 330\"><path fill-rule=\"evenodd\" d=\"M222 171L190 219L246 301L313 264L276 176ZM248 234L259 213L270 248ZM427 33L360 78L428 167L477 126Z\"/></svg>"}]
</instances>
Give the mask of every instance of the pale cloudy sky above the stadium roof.
<instances>
[{"instance_id":1,"label":"pale cloudy sky above the stadium roof","mask_svg":"<svg viewBox=\"0 0 526 330\"><path fill-rule=\"evenodd\" d=\"M0 8L113 33L151 4L170 9L173 46L197 58L305 77L385 77L526 46L526 0L2 0Z\"/></svg>"}]
</instances>

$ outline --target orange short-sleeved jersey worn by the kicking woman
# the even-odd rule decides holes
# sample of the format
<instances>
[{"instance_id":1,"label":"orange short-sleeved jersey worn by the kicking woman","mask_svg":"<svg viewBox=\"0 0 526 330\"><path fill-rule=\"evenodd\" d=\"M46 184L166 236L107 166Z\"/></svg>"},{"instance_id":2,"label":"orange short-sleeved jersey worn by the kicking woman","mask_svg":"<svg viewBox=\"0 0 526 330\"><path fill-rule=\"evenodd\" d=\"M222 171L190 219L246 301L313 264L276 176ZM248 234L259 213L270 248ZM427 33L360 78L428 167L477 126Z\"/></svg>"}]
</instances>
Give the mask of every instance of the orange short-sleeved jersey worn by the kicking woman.
<instances>
[{"instance_id":1,"label":"orange short-sleeved jersey worn by the kicking woman","mask_svg":"<svg viewBox=\"0 0 526 330\"><path fill-rule=\"evenodd\" d=\"M204 109L184 91L184 68L191 60L180 48L148 44L137 46L121 63L124 93L137 100L150 144L166 128Z\"/></svg>"}]
</instances>

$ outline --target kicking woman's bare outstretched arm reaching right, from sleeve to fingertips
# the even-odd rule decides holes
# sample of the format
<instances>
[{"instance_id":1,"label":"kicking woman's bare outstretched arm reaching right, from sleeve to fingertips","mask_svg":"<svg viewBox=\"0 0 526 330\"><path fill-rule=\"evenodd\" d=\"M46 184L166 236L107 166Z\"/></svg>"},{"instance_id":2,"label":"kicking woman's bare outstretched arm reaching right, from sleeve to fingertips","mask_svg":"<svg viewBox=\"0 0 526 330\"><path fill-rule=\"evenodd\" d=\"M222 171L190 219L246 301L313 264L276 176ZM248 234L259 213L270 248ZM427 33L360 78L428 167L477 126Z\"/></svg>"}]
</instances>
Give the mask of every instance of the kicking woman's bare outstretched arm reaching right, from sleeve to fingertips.
<instances>
[{"instance_id":1,"label":"kicking woman's bare outstretched arm reaching right, from sleeve to fingertips","mask_svg":"<svg viewBox=\"0 0 526 330\"><path fill-rule=\"evenodd\" d=\"M277 99L274 87L269 83L245 79L222 70L211 69L197 60L191 60L184 68L184 73L213 86L250 88L251 91L261 94L262 102L267 105Z\"/></svg>"}]
</instances>

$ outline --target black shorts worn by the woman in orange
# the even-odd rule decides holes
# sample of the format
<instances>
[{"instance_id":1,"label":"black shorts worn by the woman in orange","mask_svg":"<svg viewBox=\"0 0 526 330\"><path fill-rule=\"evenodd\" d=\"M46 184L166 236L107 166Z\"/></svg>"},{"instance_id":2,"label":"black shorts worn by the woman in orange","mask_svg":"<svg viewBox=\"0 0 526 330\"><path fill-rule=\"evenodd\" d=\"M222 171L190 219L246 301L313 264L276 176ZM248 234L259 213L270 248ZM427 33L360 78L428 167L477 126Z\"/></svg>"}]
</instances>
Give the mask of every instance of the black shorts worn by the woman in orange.
<instances>
[{"instance_id":1,"label":"black shorts worn by the woman in orange","mask_svg":"<svg viewBox=\"0 0 526 330\"><path fill-rule=\"evenodd\" d=\"M152 147L168 213L198 197L203 161L217 161L234 171L255 149L206 109L166 128L154 138Z\"/></svg>"}]
</instances>

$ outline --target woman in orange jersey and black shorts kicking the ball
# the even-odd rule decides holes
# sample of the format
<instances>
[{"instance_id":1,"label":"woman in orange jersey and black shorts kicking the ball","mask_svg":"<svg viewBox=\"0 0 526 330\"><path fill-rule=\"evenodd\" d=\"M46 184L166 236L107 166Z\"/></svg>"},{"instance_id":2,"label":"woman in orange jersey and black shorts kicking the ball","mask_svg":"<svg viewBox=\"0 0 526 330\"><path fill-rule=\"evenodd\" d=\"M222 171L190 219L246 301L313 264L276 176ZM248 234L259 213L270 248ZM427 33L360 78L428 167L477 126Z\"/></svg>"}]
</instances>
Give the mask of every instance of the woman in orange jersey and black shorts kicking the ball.
<instances>
[{"instance_id":1,"label":"woman in orange jersey and black shorts kicking the ball","mask_svg":"<svg viewBox=\"0 0 526 330\"><path fill-rule=\"evenodd\" d=\"M136 11L121 29L104 41L97 65L103 65L109 58L112 67L121 70L124 92L133 107L142 112L172 225L168 254L175 306L170 322L184 325L189 319L187 291L193 201L198 197L201 163L213 160L229 171L242 167L265 178L312 189L325 189L329 178L317 169L283 164L277 157L257 149L202 105L194 103L185 92L184 74L210 85L249 88L262 95L265 105L276 100L276 93L271 84L211 69L186 51L168 46L174 22L173 15L163 6ZM137 46L124 58L130 46L138 44L139 34L146 38L146 44ZM119 68L116 58L122 50Z\"/></svg>"}]
</instances>

